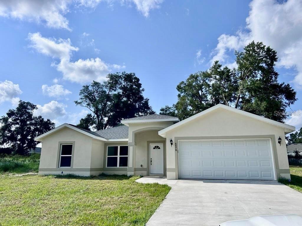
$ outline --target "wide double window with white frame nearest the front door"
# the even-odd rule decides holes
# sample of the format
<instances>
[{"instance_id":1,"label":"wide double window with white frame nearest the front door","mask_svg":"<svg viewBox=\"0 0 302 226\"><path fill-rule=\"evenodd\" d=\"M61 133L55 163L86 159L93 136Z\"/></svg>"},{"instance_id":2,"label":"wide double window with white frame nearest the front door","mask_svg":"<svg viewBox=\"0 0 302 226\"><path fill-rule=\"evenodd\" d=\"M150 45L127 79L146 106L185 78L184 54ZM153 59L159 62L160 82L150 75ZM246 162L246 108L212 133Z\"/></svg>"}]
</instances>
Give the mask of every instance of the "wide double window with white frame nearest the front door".
<instances>
[{"instance_id":1,"label":"wide double window with white frame nearest the front door","mask_svg":"<svg viewBox=\"0 0 302 226\"><path fill-rule=\"evenodd\" d=\"M107 167L127 167L128 146L107 146Z\"/></svg>"}]
</instances>

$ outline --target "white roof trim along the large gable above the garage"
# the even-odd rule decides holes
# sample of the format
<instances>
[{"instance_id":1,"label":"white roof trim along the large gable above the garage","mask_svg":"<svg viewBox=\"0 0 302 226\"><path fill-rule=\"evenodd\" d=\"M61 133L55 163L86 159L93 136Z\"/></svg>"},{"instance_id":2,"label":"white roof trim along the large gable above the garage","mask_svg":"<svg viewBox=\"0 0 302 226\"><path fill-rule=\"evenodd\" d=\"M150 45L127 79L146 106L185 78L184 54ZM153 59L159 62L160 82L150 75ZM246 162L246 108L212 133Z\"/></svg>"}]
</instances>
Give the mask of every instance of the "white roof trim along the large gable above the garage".
<instances>
[{"instance_id":1,"label":"white roof trim along the large gable above the garage","mask_svg":"<svg viewBox=\"0 0 302 226\"><path fill-rule=\"evenodd\" d=\"M196 114L196 115L193 115L189 118L186 118L178 123L175 123L174 125L171 125L165 129L162 129L160 131L158 131L158 134L159 136L161 137L165 137L165 133L172 130L172 129L175 129L176 127L179 127L189 121L192 121L196 118L199 118L203 115L206 115L208 113L210 113L211 111L214 111L218 108L223 108L225 110L228 110L228 111L233 111L235 113L238 113L240 115L244 115L244 116L247 116L249 118L254 118L256 120L259 120L259 121L263 121L265 123L268 123L268 124L271 124L271 125L274 125L274 126L278 126L278 127L281 127L281 128L284 128L284 131L286 133L291 133L293 131L295 131L295 127L294 126L291 126L291 125L288 125L288 124L284 124L284 123L281 123L281 122L277 122L277 121L274 121L274 120L271 120L271 119L268 119L268 118L264 118L264 117L261 117L259 115L254 115L252 113L249 113L249 112L246 112L246 111L242 111L242 110L239 110L237 108L233 108L233 107L230 107L230 106L226 106L226 105L223 105L223 104L217 104L215 105L214 107L211 107L211 108L208 108L207 110L204 110L204 111L201 111L200 113Z\"/></svg>"}]
</instances>

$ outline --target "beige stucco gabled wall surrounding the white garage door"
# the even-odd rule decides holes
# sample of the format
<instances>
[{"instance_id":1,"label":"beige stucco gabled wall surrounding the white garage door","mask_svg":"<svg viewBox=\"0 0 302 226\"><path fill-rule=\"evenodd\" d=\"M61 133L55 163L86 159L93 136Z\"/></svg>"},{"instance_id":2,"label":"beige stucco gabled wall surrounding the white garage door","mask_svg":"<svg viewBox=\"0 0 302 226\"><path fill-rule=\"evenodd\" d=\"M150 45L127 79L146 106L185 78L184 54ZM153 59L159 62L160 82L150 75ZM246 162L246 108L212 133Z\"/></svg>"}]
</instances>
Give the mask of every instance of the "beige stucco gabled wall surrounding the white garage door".
<instances>
[{"instance_id":1,"label":"beige stucco gabled wall surrounding the white garage door","mask_svg":"<svg viewBox=\"0 0 302 226\"><path fill-rule=\"evenodd\" d=\"M284 129L276 127L271 124L258 121L244 115L234 113L225 109L218 108L209 114L201 116L193 121L176 127L166 133L166 139L173 141L178 137L214 137L214 136L261 136L261 135L275 135L272 140L273 150L278 156L278 162L275 166L282 176L289 177L289 166L287 158L287 150L285 143ZM278 137L282 138L281 146L278 144ZM268 136L269 137L269 136ZM238 139L239 137L237 137ZM202 138L206 139L206 138ZM210 138L214 139L214 138ZM175 152L175 145L171 147L169 142L166 143L167 151L167 178L178 178L178 155ZM283 171L282 171L283 170ZM284 173L285 172L285 173ZM277 178L280 177L277 171Z\"/></svg>"}]
</instances>

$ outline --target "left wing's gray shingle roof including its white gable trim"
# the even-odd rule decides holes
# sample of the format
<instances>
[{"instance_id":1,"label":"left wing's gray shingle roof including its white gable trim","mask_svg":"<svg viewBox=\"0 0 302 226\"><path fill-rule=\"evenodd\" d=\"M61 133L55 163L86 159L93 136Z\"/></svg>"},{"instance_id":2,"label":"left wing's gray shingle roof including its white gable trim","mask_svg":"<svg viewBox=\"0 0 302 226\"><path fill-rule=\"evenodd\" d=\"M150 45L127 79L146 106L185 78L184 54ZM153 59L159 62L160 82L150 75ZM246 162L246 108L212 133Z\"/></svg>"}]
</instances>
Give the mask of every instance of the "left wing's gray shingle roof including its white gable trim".
<instances>
[{"instance_id":1,"label":"left wing's gray shingle roof including its white gable trim","mask_svg":"<svg viewBox=\"0 0 302 226\"><path fill-rule=\"evenodd\" d=\"M40 141L43 137L46 137L52 133L55 133L56 131L63 129L64 127L68 127L72 130L76 130L80 133L83 133L89 137L92 137L96 140L102 140L102 141L128 141L128 129L127 126L118 126L114 128L109 128L105 130L98 130L98 131L90 131L83 129L81 127L64 123L46 133L43 133L42 135L35 137L35 141Z\"/></svg>"}]
</instances>

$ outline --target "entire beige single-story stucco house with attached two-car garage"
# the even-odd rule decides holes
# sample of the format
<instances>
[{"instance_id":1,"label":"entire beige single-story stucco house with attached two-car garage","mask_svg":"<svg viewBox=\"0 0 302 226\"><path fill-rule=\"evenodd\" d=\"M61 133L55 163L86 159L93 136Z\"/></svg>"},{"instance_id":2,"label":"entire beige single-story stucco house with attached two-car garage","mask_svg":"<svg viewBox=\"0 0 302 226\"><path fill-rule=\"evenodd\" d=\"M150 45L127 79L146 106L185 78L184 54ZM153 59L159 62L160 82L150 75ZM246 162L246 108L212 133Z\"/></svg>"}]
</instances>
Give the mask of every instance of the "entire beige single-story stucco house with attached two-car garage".
<instances>
[{"instance_id":1,"label":"entire beige single-story stucco house with attached two-car garage","mask_svg":"<svg viewBox=\"0 0 302 226\"><path fill-rule=\"evenodd\" d=\"M39 174L290 179L287 124L222 104L183 121L154 114L121 123L96 132L63 124L36 137Z\"/></svg>"}]
</instances>

